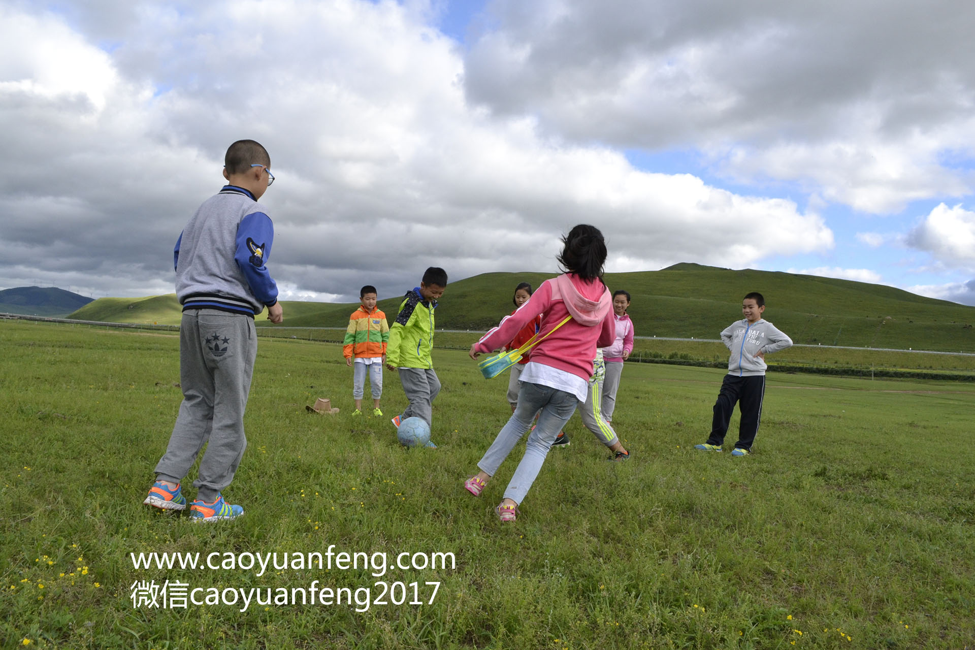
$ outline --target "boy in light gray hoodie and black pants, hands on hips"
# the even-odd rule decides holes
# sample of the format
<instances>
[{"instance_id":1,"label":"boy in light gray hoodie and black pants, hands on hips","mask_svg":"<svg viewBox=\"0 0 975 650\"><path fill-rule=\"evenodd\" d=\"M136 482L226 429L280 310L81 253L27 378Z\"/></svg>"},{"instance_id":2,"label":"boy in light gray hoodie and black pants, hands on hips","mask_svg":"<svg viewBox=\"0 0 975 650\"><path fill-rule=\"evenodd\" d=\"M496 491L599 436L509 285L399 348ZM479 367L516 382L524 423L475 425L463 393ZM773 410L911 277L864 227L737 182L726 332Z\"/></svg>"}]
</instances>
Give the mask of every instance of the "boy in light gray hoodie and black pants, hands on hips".
<instances>
[{"instance_id":1,"label":"boy in light gray hoodie and black pants, hands on hips","mask_svg":"<svg viewBox=\"0 0 975 650\"><path fill-rule=\"evenodd\" d=\"M765 355L785 350L792 339L761 319L765 311L765 299L758 291L745 296L741 302L744 321L728 325L722 331L722 343L731 351L728 373L724 375L722 390L715 402L715 415L711 423L711 437L704 444L695 444L702 451L722 451L724 435L728 431L731 411L738 402L741 423L738 441L731 450L732 456L747 456L759 433L761 401L765 397Z\"/></svg>"}]
</instances>

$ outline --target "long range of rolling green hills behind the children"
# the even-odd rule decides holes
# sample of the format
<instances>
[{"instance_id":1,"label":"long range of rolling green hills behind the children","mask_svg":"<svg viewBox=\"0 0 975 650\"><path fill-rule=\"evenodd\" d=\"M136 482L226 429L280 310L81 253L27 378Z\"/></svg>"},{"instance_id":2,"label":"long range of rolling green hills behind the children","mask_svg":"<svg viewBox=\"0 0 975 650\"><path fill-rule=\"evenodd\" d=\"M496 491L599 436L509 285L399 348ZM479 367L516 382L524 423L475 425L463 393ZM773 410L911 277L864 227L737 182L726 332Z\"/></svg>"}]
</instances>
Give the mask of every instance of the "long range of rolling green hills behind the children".
<instances>
[{"instance_id":1,"label":"long range of rolling green hills behind the children","mask_svg":"<svg viewBox=\"0 0 975 650\"><path fill-rule=\"evenodd\" d=\"M450 284L437 309L437 325L486 329L514 308L522 281L537 287L552 274L486 273ZM765 296L765 318L797 343L852 347L914 348L975 352L975 307L925 298L907 291L817 276L769 271L731 271L677 264L661 271L609 273L611 289L633 295L630 316L640 336L718 338L741 318L741 297ZM406 290L406 287L405 289ZM402 296L379 301L391 321ZM283 303L285 326L345 326L355 303ZM176 296L101 298L71 318L115 323L179 322ZM258 325L275 326L258 318Z\"/></svg>"}]
</instances>

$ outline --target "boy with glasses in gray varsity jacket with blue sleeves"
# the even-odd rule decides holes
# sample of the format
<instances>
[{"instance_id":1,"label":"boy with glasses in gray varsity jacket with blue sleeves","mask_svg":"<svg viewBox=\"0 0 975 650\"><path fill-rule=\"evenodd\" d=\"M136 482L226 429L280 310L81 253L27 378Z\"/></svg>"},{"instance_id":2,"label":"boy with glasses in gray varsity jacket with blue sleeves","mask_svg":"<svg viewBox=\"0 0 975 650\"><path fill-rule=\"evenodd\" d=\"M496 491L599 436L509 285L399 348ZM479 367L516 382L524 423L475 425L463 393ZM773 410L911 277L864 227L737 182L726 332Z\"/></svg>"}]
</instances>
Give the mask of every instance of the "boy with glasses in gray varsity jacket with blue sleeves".
<instances>
[{"instance_id":1,"label":"boy with glasses in gray varsity jacket with blue sleeves","mask_svg":"<svg viewBox=\"0 0 975 650\"><path fill-rule=\"evenodd\" d=\"M179 325L179 383L183 401L156 482L143 503L183 510L180 481L197 455L197 499L190 516L199 521L244 514L223 500L247 447L244 408L251 390L257 336L254 316L267 307L281 323L278 286L265 265L274 225L257 200L274 180L271 158L254 140L238 140L224 158L228 184L208 199L183 228L174 250Z\"/></svg>"}]
</instances>

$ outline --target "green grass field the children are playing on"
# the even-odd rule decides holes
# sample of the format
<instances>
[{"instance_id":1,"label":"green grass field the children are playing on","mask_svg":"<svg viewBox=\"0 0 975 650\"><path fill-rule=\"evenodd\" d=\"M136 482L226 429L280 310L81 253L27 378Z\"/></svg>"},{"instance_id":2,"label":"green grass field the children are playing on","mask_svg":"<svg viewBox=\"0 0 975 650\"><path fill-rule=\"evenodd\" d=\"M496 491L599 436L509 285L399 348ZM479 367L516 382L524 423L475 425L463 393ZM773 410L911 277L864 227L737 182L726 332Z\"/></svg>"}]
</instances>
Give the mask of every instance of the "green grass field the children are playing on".
<instances>
[{"instance_id":1,"label":"green grass field the children are playing on","mask_svg":"<svg viewBox=\"0 0 975 650\"><path fill-rule=\"evenodd\" d=\"M175 335L0 322L0 340L4 647L909 649L975 639L967 382L770 373L756 453L732 459L692 448L721 370L628 364L613 424L632 459L605 462L573 418L571 446L550 453L523 515L502 525L491 509L519 448L481 499L461 482L507 418L504 380L484 380L461 351L436 351L441 448L408 450L386 418L349 417L351 371L337 345L262 338L249 447L226 491L247 514L208 525L141 505L181 398ZM392 415L405 401L396 376L385 379ZM342 412L307 413L317 397ZM219 563L331 545L385 553L389 565L378 577L377 564L137 569L130 555ZM401 553L453 562L401 569ZM133 601L166 581L229 600L224 590L252 588L299 598L316 580L348 598ZM439 583L432 603L428 583ZM383 593L387 604L375 602Z\"/></svg>"}]
</instances>

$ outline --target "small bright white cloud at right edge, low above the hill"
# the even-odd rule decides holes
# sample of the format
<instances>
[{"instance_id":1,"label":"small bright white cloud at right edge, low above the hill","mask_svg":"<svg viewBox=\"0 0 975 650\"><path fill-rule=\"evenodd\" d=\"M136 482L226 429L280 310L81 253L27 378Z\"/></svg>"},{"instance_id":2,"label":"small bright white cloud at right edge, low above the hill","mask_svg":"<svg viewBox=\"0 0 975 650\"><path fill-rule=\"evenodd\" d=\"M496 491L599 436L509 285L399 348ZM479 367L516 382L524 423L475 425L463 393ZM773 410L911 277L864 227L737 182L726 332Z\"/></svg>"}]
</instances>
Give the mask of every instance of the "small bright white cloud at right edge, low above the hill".
<instances>
[{"instance_id":1,"label":"small bright white cloud at right edge, low above the hill","mask_svg":"<svg viewBox=\"0 0 975 650\"><path fill-rule=\"evenodd\" d=\"M975 212L940 204L908 233L906 243L947 266L975 269Z\"/></svg>"}]
</instances>

